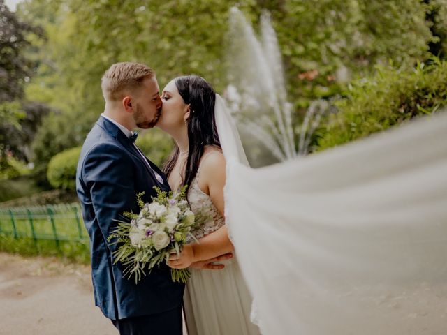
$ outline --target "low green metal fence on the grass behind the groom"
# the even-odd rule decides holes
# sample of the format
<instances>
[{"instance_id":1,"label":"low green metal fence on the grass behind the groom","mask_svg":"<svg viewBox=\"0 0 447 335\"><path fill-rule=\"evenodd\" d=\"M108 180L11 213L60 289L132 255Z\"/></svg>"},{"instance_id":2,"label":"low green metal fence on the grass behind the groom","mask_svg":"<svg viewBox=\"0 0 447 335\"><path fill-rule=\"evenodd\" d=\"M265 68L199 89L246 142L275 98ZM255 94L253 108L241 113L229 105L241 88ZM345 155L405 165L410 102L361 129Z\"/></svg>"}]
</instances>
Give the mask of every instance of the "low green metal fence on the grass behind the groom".
<instances>
[{"instance_id":1,"label":"low green metal fence on the grass behind the groom","mask_svg":"<svg viewBox=\"0 0 447 335\"><path fill-rule=\"evenodd\" d=\"M60 241L89 240L82 222L79 204L0 208L0 234L15 239L52 240L59 248Z\"/></svg>"}]
</instances>

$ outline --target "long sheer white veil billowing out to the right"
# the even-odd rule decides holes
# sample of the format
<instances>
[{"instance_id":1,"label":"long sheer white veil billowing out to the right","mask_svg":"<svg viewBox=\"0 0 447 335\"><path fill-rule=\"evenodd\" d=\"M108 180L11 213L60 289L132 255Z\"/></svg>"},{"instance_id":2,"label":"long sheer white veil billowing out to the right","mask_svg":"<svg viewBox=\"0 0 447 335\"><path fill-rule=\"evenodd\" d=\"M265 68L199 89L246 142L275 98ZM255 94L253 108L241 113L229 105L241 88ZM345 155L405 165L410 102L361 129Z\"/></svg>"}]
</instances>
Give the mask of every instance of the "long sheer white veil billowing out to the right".
<instances>
[{"instance_id":1,"label":"long sheer white veil billowing out to the right","mask_svg":"<svg viewBox=\"0 0 447 335\"><path fill-rule=\"evenodd\" d=\"M219 96L216 117L264 335L447 333L447 113L258 169Z\"/></svg>"}]
</instances>

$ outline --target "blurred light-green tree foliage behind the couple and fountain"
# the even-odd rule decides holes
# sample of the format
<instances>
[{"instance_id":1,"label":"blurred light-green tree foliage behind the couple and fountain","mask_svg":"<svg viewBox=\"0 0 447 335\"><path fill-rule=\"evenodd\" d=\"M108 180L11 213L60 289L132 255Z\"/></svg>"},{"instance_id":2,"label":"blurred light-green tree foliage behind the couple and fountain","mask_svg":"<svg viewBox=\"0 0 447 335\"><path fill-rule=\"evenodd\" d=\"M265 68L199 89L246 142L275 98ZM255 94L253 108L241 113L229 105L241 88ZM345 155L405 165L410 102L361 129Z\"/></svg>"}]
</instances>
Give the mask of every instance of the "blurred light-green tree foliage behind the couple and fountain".
<instances>
[{"instance_id":1,"label":"blurred light-green tree foliage behind the couple and fountain","mask_svg":"<svg viewBox=\"0 0 447 335\"><path fill-rule=\"evenodd\" d=\"M222 92L234 65L226 57L232 6L255 27L264 8L272 13L297 123L314 99L344 94L378 64L412 68L437 40L421 0L27 0L17 13L44 27L47 40L33 54L38 68L25 92L57 110L34 140L36 165L82 142L103 110L99 80L117 61L149 64L161 87L196 73Z\"/></svg>"}]
</instances>

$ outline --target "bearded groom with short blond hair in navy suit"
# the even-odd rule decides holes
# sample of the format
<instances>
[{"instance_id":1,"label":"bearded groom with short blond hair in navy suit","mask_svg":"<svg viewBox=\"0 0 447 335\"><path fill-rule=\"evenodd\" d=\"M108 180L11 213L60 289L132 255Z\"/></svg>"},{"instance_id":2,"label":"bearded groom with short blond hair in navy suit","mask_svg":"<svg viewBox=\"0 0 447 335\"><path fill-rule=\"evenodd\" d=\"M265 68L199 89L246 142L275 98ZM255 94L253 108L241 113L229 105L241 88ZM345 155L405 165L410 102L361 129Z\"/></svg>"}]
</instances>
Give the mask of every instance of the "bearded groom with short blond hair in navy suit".
<instances>
[{"instance_id":1,"label":"bearded groom with short blond hair in navy suit","mask_svg":"<svg viewBox=\"0 0 447 335\"><path fill-rule=\"evenodd\" d=\"M161 99L154 71L145 64L113 64L101 79L105 110L82 147L76 191L89 232L95 304L119 333L182 334L184 284L173 283L170 268L161 265L137 284L113 264L116 244L107 237L124 211L139 212L135 196L156 196L153 186L170 191L168 181L135 146L135 128L152 128L159 119ZM215 260L196 267L218 269Z\"/></svg>"}]
</instances>

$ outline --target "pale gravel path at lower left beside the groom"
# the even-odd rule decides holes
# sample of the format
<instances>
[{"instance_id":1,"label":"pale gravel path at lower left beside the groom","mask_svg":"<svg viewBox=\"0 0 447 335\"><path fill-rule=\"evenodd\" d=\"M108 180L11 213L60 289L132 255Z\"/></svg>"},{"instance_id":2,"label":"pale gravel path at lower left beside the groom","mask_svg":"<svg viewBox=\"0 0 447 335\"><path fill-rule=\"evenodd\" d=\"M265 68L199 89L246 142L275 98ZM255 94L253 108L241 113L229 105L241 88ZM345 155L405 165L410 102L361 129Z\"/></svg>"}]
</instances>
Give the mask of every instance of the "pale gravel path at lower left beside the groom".
<instances>
[{"instance_id":1,"label":"pale gravel path at lower left beside the groom","mask_svg":"<svg viewBox=\"0 0 447 335\"><path fill-rule=\"evenodd\" d=\"M118 334L94 306L90 267L56 258L0 253L0 315L0 335Z\"/></svg>"}]
</instances>

